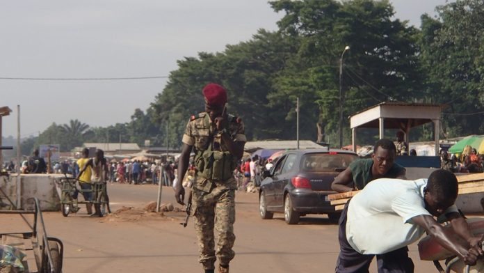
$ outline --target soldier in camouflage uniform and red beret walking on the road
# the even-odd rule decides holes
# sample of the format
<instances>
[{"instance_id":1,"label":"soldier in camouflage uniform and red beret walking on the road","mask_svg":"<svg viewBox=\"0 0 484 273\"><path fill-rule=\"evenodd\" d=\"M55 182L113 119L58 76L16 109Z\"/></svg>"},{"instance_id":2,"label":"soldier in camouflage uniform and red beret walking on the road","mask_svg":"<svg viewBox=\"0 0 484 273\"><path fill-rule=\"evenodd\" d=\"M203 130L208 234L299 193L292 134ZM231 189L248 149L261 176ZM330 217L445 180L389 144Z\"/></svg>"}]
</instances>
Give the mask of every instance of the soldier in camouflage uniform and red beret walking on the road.
<instances>
[{"instance_id":1,"label":"soldier in camouflage uniform and red beret walking on the road","mask_svg":"<svg viewBox=\"0 0 484 273\"><path fill-rule=\"evenodd\" d=\"M178 180L183 181L192 148L195 152L195 182L193 183L193 214L198 238L200 263L205 272L214 272L216 257L218 272L229 272L234 258L235 189L233 171L242 157L245 133L240 118L226 114L227 93L218 84L203 89L205 111L192 116L181 142ZM177 202L184 205L185 190L175 187ZM217 247L213 228L218 235Z\"/></svg>"}]
</instances>

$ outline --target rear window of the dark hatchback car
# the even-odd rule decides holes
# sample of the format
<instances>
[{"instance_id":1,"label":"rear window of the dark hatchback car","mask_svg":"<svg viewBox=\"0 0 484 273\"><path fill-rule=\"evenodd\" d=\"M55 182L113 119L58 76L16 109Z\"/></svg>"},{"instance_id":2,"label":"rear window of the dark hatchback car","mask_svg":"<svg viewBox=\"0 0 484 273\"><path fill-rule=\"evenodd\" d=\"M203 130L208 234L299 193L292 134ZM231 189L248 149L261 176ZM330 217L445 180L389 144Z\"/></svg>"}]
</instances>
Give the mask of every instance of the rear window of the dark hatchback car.
<instances>
[{"instance_id":1,"label":"rear window of the dark hatchback car","mask_svg":"<svg viewBox=\"0 0 484 273\"><path fill-rule=\"evenodd\" d=\"M341 171L358 157L346 153L311 153L302 156L302 171Z\"/></svg>"}]
</instances>

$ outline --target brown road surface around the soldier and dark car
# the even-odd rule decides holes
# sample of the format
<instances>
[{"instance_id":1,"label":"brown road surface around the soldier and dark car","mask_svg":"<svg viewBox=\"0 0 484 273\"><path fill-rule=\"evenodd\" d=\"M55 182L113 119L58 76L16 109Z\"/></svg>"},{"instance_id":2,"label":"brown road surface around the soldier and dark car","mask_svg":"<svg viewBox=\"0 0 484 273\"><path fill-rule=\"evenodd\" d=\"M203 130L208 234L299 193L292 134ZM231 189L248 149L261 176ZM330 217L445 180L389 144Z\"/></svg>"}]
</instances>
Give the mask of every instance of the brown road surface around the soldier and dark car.
<instances>
[{"instance_id":1,"label":"brown road surface around the soldier and dark car","mask_svg":"<svg viewBox=\"0 0 484 273\"><path fill-rule=\"evenodd\" d=\"M114 184L108 185L108 192L114 211L122 205L143 208L156 201L157 187ZM171 188L163 188L162 202L175 204ZM289 226L282 214L261 220L257 194L238 192L236 203L236 258L231 272L334 272L337 225L325 216L305 217L300 224ZM128 222L85 213L81 210L69 217L61 212L44 213L49 235L65 244L63 272L202 272L193 219L182 228L183 213ZM1 216L1 231L18 231L22 223L13 217ZM410 247L410 255L415 272L437 272L431 263L418 260L415 246ZM374 263L371 272L376 272Z\"/></svg>"}]
</instances>

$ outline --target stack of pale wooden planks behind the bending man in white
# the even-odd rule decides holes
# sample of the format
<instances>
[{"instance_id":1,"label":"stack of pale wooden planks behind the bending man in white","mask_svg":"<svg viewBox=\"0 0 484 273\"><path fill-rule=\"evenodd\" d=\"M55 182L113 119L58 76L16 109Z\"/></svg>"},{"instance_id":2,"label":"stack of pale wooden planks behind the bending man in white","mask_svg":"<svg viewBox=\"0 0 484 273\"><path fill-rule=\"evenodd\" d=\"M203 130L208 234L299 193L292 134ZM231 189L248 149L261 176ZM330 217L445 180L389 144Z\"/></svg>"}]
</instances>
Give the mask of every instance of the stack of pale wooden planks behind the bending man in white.
<instances>
[{"instance_id":1,"label":"stack of pale wooden planks behind the bending man in white","mask_svg":"<svg viewBox=\"0 0 484 273\"><path fill-rule=\"evenodd\" d=\"M459 182L459 194L474 194L477 192L484 192L484 173L472 173L457 176ZM360 191L344 192L341 194L329 194L331 205L334 205L334 210L343 210L344 205L351 197L355 196Z\"/></svg>"}]
</instances>

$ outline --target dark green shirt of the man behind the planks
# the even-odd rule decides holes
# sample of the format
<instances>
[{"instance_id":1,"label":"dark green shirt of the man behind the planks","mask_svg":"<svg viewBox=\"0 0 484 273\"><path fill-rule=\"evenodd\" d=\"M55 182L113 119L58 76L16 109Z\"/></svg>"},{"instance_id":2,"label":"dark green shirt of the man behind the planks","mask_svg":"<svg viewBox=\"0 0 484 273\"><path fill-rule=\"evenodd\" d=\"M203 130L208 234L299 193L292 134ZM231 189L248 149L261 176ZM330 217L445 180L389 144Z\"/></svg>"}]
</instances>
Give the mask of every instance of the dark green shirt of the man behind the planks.
<instances>
[{"instance_id":1,"label":"dark green shirt of the man behind the planks","mask_svg":"<svg viewBox=\"0 0 484 273\"><path fill-rule=\"evenodd\" d=\"M371 174L372 166L373 159L371 158L358 159L350 163L349 168L353 175L353 182L355 183L356 189L363 189L366 184L375 179ZM403 166L394 163L383 178L396 178L403 170L405 170Z\"/></svg>"}]
</instances>

